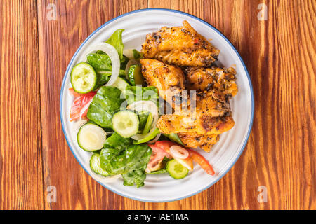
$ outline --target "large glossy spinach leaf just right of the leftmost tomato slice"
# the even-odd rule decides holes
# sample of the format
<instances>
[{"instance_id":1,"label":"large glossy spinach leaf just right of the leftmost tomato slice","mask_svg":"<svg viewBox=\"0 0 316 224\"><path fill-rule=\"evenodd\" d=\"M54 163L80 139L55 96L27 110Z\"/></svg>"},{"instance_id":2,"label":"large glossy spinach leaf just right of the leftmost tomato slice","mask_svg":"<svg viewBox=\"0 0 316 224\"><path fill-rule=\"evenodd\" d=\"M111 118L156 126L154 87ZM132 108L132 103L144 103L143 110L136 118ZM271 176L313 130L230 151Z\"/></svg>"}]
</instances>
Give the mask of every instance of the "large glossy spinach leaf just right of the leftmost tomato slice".
<instances>
[{"instance_id":1,"label":"large glossy spinach leaf just right of the leftmost tomato slice","mask_svg":"<svg viewBox=\"0 0 316 224\"><path fill-rule=\"evenodd\" d=\"M102 86L88 108L87 117L97 125L112 128L111 118L114 111L120 109L124 99L120 98L121 90L117 87Z\"/></svg>"}]
</instances>

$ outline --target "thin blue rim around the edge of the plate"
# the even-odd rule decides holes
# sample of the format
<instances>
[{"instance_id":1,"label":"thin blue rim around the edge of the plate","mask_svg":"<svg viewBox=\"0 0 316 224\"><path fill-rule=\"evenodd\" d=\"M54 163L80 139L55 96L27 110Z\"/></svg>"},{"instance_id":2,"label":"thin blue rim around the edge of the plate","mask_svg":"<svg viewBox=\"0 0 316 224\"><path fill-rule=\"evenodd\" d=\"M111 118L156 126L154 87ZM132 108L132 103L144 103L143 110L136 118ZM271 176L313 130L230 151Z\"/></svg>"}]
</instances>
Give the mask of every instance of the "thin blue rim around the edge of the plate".
<instances>
[{"instance_id":1,"label":"thin blue rim around the edge of the plate","mask_svg":"<svg viewBox=\"0 0 316 224\"><path fill-rule=\"evenodd\" d=\"M249 130L248 130L248 133L247 133L247 137L244 141L244 144L242 146L242 150L239 152L239 154L237 155L237 158L234 162L232 162L232 165L230 166L229 169L226 170L226 172L224 172L224 174L222 174L217 181L215 181L214 183L211 183L209 186L206 186L206 188L203 188L202 190L198 190L197 192L195 193L192 193L191 195L186 195L184 197L179 197L179 198L176 198L176 199L172 199L172 200L161 200L161 201L151 201L151 200L142 200L142 199L138 199L136 197L129 197L129 196L126 196L124 195L123 193L118 193L116 190L113 190L111 189L109 186L105 186L103 183L100 183L99 181L96 181L96 179L94 179L96 182L100 183L101 186L107 188L107 190L111 190L112 192L116 193L117 195L120 195L120 196L123 196L123 197L127 197L129 199L132 199L132 200L138 200L138 201L141 201L141 202L173 202L173 201L177 201L177 200L182 200L182 199L185 199L187 197L191 197L193 195L197 195L198 193L201 193L202 191L210 188L211 186L213 186L215 183L217 183L220 179L223 178L223 176L225 176L225 174L227 174L230 169L232 169L232 167L235 165L235 163L237 162L237 160L239 159L240 155L242 155L242 152L244 151L244 148L246 147L246 144L248 142L248 139L249 139L249 135L251 133L251 128L252 128L252 124L253 124L253 121L254 121L254 90L253 90L253 87L252 87L252 83L251 83L251 78L249 76L249 72L248 70L246 69L246 65L244 64L244 61L242 60L242 57L239 55L239 52L236 50L235 46L232 45L232 43L230 43L230 41L228 40L228 38L226 38L224 36L224 34L222 34L218 29L216 29L215 27L213 27L212 25L210 25L208 22L205 22L204 20L200 19L200 18L197 18L195 15L191 15L191 14L188 14L188 13L183 13L179 10L173 10L173 9L166 9L166 8L145 8L145 9L140 9L140 10L134 10L134 11L131 11L129 13L124 13L122 15L119 15L117 16L116 18L113 18L112 20L109 20L107 22L105 22L105 24L101 25L100 27L98 27L98 29L96 29L95 31L93 31L92 34L90 34L86 40L84 40L83 43L81 43L81 45L79 46L79 48L77 49L77 51L74 53L74 56L72 56L72 59L70 60L68 66L67 66L67 70L65 72L65 76L62 80L62 87L61 87L61 90L60 90L60 120L61 120L61 123L62 123L62 132L64 132L64 135L65 135L65 139L67 141L67 144L70 148L70 150L72 151L72 154L74 155L74 158L76 158L77 162L79 162L78 158L76 157L76 155L74 154L74 151L72 149L72 147L70 146L70 142L68 141L67 139L67 134L65 132L65 127L64 127L64 120L62 119L62 95L63 95L63 90L64 90L64 86L65 86L65 82L66 82L66 78L67 78L67 73L69 73L69 70L70 70L70 65L72 64L72 61L74 60L74 58L77 56L79 50L84 46L84 44L86 43L86 41L88 41L89 38L91 38L94 34L96 34L97 31L99 31L100 29L102 29L103 27L105 27L106 25L110 24L110 22L113 22L114 20L117 20L119 18L122 18L126 15L130 15L130 14L133 14L133 13L139 13L139 12L143 12L143 11L153 11L153 10L161 10L161 11L167 11L167 12L172 12L172 13L178 13L178 14L182 14L182 15L187 15L189 16L190 18L194 18L195 20L198 20L199 22L202 22L204 23L205 25L207 25L208 27L210 27L211 29L213 29L214 31L216 31L216 33L220 34L220 36L222 36L224 38L224 40L232 47L233 50L235 50L237 56L239 57L240 59L240 62L242 62L242 66L244 66L244 70L246 71L246 75L247 75L247 78L248 78L248 82L249 82L249 87L250 87L250 91L251 91L251 120L250 120L250 125L249 125ZM84 169L84 171L89 175L89 172L84 168L84 165L81 164L81 162L79 162L79 165ZM91 178L93 179L93 177L91 176Z\"/></svg>"}]
</instances>

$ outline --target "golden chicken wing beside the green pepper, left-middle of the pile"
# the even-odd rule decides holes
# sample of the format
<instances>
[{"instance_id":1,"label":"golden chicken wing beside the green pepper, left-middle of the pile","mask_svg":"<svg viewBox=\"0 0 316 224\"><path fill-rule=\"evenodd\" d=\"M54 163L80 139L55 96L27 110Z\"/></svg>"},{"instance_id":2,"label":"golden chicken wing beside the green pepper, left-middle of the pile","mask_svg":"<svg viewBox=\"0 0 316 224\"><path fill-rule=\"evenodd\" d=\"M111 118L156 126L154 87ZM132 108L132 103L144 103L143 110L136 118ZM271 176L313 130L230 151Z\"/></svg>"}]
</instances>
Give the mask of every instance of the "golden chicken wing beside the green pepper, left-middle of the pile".
<instances>
[{"instance_id":1,"label":"golden chicken wing beside the green pepper, left-middle of the pile","mask_svg":"<svg viewBox=\"0 0 316 224\"><path fill-rule=\"evenodd\" d=\"M185 90L185 76L177 66L171 66L155 59L141 59L143 76L148 85L157 87L159 95L173 107L190 105Z\"/></svg>"}]
</instances>

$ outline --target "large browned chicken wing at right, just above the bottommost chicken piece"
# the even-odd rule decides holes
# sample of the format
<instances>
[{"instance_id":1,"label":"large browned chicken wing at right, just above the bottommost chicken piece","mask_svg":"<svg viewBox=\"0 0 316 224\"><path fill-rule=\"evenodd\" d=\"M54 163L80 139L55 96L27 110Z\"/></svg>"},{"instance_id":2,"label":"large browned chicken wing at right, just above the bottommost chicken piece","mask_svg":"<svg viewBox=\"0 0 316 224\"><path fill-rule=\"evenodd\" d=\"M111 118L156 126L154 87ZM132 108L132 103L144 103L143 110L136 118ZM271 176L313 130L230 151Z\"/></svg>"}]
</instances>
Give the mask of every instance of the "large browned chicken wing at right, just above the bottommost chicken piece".
<instances>
[{"instance_id":1,"label":"large browned chicken wing at right, just above the bottommost chicken piece","mask_svg":"<svg viewBox=\"0 0 316 224\"><path fill-rule=\"evenodd\" d=\"M199 92L196 100L191 99L190 113L163 115L157 123L160 132L166 134L221 134L234 125L229 102L216 90Z\"/></svg>"}]
</instances>

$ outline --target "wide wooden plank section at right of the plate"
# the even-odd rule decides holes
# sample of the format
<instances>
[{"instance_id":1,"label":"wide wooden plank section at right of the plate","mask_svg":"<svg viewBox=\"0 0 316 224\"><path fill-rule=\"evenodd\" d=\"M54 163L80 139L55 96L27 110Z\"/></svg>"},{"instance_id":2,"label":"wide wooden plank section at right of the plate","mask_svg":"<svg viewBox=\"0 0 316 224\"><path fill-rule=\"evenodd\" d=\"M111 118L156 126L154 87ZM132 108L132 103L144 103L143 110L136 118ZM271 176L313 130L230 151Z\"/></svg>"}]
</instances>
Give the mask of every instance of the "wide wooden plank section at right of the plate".
<instances>
[{"instance_id":1,"label":"wide wooden plank section at right of the plate","mask_svg":"<svg viewBox=\"0 0 316 224\"><path fill-rule=\"evenodd\" d=\"M258 5L268 20L258 20ZM315 1L204 1L204 19L236 46L255 95L254 126L212 209L315 209ZM266 186L268 202L259 203ZM312 187L314 186L314 188Z\"/></svg>"}]
</instances>

